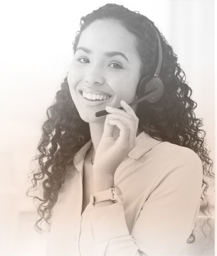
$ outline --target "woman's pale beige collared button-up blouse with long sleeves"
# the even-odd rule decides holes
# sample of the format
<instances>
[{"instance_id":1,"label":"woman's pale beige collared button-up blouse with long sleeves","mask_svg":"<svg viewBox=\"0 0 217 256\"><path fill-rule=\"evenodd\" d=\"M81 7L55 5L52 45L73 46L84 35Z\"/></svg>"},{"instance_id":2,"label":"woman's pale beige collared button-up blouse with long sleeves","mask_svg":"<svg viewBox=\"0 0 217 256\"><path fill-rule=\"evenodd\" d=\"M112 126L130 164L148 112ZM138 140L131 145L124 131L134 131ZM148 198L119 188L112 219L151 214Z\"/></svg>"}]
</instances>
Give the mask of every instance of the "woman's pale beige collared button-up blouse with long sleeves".
<instances>
[{"instance_id":1,"label":"woman's pale beige collared button-up blouse with long sleeves","mask_svg":"<svg viewBox=\"0 0 217 256\"><path fill-rule=\"evenodd\" d=\"M199 213L203 167L186 147L144 132L121 162L114 183L124 202L82 211L82 177L91 141L75 155L53 209L47 254L181 255Z\"/></svg>"}]
</instances>

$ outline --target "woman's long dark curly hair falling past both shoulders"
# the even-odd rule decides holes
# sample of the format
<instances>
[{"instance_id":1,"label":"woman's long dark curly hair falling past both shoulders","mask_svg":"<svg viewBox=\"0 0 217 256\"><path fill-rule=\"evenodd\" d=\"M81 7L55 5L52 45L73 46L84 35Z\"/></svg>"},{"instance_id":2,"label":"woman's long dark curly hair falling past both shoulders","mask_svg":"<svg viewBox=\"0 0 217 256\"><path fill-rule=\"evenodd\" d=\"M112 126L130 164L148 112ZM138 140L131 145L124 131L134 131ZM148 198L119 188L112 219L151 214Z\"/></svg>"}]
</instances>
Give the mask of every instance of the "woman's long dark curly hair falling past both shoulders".
<instances>
[{"instance_id":1,"label":"woman's long dark curly hair falling past both shoulders","mask_svg":"<svg viewBox=\"0 0 217 256\"><path fill-rule=\"evenodd\" d=\"M206 195L208 180L214 177L212 161L205 145L205 131L202 119L195 117L197 104L191 99L192 89L185 82L185 73L177 62L177 55L154 23L139 12L129 11L122 5L106 4L81 18L73 50L76 51L82 31L93 21L109 19L119 22L136 38L136 50L142 62L142 76L153 75L158 64L158 37L162 45L163 60L160 78L164 84L161 100L155 104L138 104L139 128L152 138L163 142L188 147L203 162L203 192L201 212L209 216L209 200ZM155 31L154 31L154 29ZM89 124L81 118L68 87L67 77L56 94L54 104L47 110L47 120L42 125L42 136L38 145L38 155L34 160L39 169L33 171L32 186L42 187L43 196L34 195L40 201L36 229L42 231L41 222L49 220L52 209L64 181L70 174L73 159L80 148L90 140ZM189 241L194 241L192 233Z\"/></svg>"}]
</instances>

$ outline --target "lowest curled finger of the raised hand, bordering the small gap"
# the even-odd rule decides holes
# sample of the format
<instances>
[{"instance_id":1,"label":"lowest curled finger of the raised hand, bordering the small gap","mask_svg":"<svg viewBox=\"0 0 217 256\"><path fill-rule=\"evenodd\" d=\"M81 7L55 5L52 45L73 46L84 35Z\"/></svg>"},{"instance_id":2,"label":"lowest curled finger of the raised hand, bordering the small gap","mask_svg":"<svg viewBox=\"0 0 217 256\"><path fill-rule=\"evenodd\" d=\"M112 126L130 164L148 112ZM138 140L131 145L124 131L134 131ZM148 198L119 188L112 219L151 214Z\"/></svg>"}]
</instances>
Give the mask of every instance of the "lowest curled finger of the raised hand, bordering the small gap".
<instances>
[{"instance_id":1,"label":"lowest curled finger of the raised hand, bordering the small gap","mask_svg":"<svg viewBox=\"0 0 217 256\"><path fill-rule=\"evenodd\" d=\"M120 130L119 137L117 139L117 144L119 144L119 146L121 146L122 148L128 147L129 130L130 130L129 127L125 125L125 123L117 119L109 120L109 124L112 126L117 126Z\"/></svg>"}]
</instances>

